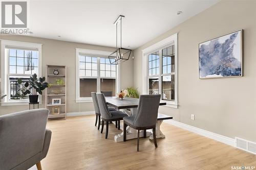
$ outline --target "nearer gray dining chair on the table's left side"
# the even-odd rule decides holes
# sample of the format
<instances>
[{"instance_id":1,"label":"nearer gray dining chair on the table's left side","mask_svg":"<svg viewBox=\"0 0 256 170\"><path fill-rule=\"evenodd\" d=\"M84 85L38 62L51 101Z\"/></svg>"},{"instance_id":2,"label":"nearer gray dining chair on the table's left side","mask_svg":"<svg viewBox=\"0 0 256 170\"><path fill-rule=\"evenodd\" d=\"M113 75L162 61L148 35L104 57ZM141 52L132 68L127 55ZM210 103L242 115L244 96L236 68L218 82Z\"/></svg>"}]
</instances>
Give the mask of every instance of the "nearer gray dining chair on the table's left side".
<instances>
[{"instance_id":1,"label":"nearer gray dining chair on the table's left side","mask_svg":"<svg viewBox=\"0 0 256 170\"><path fill-rule=\"evenodd\" d=\"M103 132L104 122L106 122L106 133L105 133L105 139L106 139L108 138L109 122L118 121L118 130L120 130L120 120L122 120L123 117L127 116L127 114L119 110L110 112L108 109L108 105L106 105L104 94L97 93L96 95L99 103L99 110L100 110L101 120L102 120L100 133Z\"/></svg>"}]
</instances>

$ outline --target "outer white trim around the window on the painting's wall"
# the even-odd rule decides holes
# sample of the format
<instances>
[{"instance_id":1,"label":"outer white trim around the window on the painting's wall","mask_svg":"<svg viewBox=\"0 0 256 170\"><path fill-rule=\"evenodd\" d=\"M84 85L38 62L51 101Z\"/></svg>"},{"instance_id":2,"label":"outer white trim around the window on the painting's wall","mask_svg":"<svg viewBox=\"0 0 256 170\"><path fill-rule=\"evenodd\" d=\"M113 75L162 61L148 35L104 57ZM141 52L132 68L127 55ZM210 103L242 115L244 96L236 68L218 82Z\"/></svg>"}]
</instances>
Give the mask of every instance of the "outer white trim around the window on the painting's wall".
<instances>
[{"instance_id":1,"label":"outer white trim around the window on the painting's wall","mask_svg":"<svg viewBox=\"0 0 256 170\"><path fill-rule=\"evenodd\" d=\"M148 57L147 55L154 53L161 48L167 47L168 45L173 45L174 44L174 53L175 53L175 100L174 101L166 101L166 100L161 100L161 102L166 102L167 107L172 107L172 108L178 108L178 34L174 34L172 36L169 36L151 46L148 46L147 48L144 48L142 50L142 65L143 65L143 81L142 81L142 90L143 94L148 94ZM159 62L159 68L162 66L162 63ZM159 75L161 75L161 72L159 70ZM154 76L151 76L154 77ZM155 76L155 77L158 77ZM160 83L161 79L159 79ZM159 88L159 93L161 92L161 88Z\"/></svg>"}]
</instances>

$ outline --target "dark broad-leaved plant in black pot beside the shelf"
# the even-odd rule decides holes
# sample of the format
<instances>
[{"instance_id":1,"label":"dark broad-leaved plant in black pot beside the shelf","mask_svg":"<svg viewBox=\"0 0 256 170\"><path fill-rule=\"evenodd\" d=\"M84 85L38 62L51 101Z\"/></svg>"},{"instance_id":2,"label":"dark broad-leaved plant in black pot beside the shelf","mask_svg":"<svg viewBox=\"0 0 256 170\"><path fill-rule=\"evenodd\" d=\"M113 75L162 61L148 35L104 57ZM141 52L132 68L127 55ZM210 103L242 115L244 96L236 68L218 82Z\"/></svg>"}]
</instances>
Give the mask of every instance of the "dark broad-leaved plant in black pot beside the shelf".
<instances>
[{"instance_id":1,"label":"dark broad-leaved plant in black pot beside the shelf","mask_svg":"<svg viewBox=\"0 0 256 170\"><path fill-rule=\"evenodd\" d=\"M25 84L22 83L22 79L18 78L16 85L22 86L22 88L20 88L18 91L20 91L23 95L29 94L30 103L37 103L38 93L42 94L42 90L46 89L49 86L49 84L45 82L45 80L45 77L37 78L37 75L34 74L32 75L32 77L29 78L29 82L26 82Z\"/></svg>"}]
</instances>

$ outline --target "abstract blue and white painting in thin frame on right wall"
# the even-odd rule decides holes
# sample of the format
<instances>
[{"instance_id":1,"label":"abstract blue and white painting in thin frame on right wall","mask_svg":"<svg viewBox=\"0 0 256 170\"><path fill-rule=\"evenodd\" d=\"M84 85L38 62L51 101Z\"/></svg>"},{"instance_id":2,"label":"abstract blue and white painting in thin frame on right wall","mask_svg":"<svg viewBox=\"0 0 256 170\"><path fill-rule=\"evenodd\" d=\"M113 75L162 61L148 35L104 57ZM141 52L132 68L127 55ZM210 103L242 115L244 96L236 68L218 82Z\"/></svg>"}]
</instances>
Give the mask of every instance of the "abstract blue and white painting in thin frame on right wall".
<instances>
[{"instance_id":1,"label":"abstract blue and white painting in thin frame on right wall","mask_svg":"<svg viewBox=\"0 0 256 170\"><path fill-rule=\"evenodd\" d=\"M242 30L199 44L199 78L242 76Z\"/></svg>"}]
</instances>

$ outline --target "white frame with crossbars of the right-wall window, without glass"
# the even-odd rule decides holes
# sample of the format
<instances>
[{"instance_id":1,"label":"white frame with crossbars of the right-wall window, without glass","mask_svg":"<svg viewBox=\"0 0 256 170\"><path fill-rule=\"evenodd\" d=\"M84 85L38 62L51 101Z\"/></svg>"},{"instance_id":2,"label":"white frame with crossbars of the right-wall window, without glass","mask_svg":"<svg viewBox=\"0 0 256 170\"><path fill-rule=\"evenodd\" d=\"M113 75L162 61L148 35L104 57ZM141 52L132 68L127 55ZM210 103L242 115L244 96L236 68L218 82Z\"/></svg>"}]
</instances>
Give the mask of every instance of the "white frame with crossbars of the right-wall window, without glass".
<instances>
[{"instance_id":1,"label":"white frame with crossbars of the right-wall window, without glass","mask_svg":"<svg viewBox=\"0 0 256 170\"><path fill-rule=\"evenodd\" d=\"M142 50L142 57L143 57L143 81L142 81L142 90L143 94L148 94L149 90L149 78L159 78L159 93L161 94L161 102L166 102L167 107L172 107L172 108L178 108L178 34L174 34L172 36L169 36L145 49ZM168 46L174 45L174 67L175 70L174 72L168 73L168 74L162 74L162 50ZM148 75L148 55L152 53L159 52L159 74L158 75ZM174 101L169 101L169 100L162 100L162 76L169 76L169 75L175 75L175 100Z\"/></svg>"}]
</instances>

